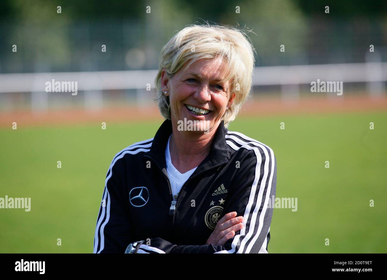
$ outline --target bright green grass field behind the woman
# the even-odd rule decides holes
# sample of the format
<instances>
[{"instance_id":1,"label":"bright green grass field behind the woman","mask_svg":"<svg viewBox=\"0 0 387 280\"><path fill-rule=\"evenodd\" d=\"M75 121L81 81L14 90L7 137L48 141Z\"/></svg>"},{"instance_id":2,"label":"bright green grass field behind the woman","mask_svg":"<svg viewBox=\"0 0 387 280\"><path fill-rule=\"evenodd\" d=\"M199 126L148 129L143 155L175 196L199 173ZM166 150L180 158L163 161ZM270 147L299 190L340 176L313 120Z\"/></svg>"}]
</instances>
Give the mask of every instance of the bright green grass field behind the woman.
<instances>
[{"instance_id":1,"label":"bright green grass field behind the woman","mask_svg":"<svg viewBox=\"0 0 387 280\"><path fill-rule=\"evenodd\" d=\"M31 198L30 212L0 209L0 253L91 253L111 159L159 125L0 129L0 197ZM240 118L229 130L269 145L277 197L298 198L298 211L274 209L269 253L387 253L387 113Z\"/></svg>"}]
</instances>

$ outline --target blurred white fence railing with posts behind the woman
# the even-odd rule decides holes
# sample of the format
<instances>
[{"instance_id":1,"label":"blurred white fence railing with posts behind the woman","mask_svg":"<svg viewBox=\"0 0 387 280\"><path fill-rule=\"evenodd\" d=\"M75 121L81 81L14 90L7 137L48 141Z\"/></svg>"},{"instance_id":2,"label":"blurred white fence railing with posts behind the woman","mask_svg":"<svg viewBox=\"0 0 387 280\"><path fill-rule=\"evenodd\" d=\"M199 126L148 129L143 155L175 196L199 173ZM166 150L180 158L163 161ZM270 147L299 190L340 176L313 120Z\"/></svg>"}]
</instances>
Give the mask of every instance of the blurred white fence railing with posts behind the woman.
<instances>
[{"instance_id":1,"label":"blurred white fence railing with posts behind the woman","mask_svg":"<svg viewBox=\"0 0 387 280\"><path fill-rule=\"evenodd\" d=\"M0 74L0 93L31 92L31 103L46 106L46 82L77 81L85 106L101 106L103 90L137 89L138 97L154 87L156 70ZM280 85L283 96L297 96L299 86L312 81L366 82L371 95L385 92L387 62L256 67L254 86ZM1 98L1 94L0 94ZM34 107L34 106L33 106ZM42 106L40 106L42 107Z\"/></svg>"}]
</instances>

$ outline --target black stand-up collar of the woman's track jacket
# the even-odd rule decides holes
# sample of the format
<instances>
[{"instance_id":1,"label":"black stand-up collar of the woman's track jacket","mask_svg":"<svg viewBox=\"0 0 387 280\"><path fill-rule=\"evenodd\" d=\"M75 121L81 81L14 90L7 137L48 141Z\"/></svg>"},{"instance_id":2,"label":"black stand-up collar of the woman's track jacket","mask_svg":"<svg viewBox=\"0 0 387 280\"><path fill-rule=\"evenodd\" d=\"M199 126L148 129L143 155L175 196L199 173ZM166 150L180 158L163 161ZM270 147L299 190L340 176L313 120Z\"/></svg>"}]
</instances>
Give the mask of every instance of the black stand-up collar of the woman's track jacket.
<instances>
[{"instance_id":1,"label":"black stand-up collar of the woman's track jacket","mask_svg":"<svg viewBox=\"0 0 387 280\"><path fill-rule=\"evenodd\" d=\"M222 163L226 163L231 155L231 151L226 144L226 127L224 127L224 122L219 124L217 128L214 139L211 144L211 149L207 157L199 164L196 168L195 173L199 173L207 168L214 167L216 165L221 165ZM167 145L167 141L172 134L172 122L171 120L165 120L163 124L159 127L156 135L153 138L151 150L149 152L144 153L144 156L149 156L153 158L163 170L166 168L165 162L165 148ZM195 147L193 147L193 152L195 152Z\"/></svg>"}]
</instances>

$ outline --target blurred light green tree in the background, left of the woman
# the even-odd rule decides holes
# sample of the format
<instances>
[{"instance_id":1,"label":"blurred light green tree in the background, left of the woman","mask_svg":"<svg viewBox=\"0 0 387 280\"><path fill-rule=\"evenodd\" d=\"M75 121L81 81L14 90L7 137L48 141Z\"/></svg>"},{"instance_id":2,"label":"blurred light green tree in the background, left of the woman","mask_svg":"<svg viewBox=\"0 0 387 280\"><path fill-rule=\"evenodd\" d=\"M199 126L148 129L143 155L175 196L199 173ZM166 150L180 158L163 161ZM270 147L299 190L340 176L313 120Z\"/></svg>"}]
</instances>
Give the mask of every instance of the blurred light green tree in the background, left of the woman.
<instances>
[{"instance_id":1,"label":"blurred light green tree in the background, left of the woman","mask_svg":"<svg viewBox=\"0 0 387 280\"><path fill-rule=\"evenodd\" d=\"M17 45L25 61L32 62L36 71L49 71L51 65L67 64L70 57L67 25L68 13L57 13L57 3L35 0L29 3L12 0L14 25L9 42ZM63 9L63 7L62 7Z\"/></svg>"}]
</instances>

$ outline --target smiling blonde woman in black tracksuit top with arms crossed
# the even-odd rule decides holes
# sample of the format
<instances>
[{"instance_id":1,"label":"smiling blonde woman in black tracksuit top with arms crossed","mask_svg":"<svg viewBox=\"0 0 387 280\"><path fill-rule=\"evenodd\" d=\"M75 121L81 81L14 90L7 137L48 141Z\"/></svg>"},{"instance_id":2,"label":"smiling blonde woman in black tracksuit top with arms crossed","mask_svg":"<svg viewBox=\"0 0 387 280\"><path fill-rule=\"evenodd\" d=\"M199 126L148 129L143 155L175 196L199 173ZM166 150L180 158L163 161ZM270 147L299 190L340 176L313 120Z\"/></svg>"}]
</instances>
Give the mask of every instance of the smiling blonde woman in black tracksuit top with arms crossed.
<instances>
[{"instance_id":1,"label":"smiling blonde woman in black tracksuit top with arms crossed","mask_svg":"<svg viewBox=\"0 0 387 280\"><path fill-rule=\"evenodd\" d=\"M271 148L228 131L247 99L243 31L192 25L161 50L156 135L108 170L94 253L267 253L276 192Z\"/></svg>"}]
</instances>

